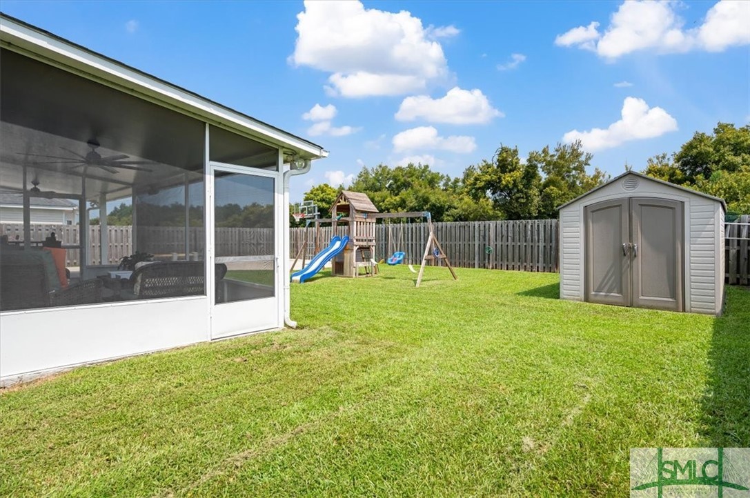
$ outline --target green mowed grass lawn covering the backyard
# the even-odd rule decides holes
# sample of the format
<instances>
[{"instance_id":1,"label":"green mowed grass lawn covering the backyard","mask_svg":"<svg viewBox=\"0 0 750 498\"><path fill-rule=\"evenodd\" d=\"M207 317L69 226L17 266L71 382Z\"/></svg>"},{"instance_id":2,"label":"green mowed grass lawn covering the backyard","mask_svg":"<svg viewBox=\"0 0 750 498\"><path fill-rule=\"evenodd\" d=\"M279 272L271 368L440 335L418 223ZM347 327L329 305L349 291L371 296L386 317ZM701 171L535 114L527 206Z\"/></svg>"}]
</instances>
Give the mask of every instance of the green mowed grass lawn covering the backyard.
<instances>
[{"instance_id":1,"label":"green mowed grass lawn covering the backyard","mask_svg":"<svg viewBox=\"0 0 750 498\"><path fill-rule=\"evenodd\" d=\"M714 319L381 269L294 286L297 331L6 390L0 496L623 496L631 447L750 446L746 289Z\"/></svg>"}]
</instances>

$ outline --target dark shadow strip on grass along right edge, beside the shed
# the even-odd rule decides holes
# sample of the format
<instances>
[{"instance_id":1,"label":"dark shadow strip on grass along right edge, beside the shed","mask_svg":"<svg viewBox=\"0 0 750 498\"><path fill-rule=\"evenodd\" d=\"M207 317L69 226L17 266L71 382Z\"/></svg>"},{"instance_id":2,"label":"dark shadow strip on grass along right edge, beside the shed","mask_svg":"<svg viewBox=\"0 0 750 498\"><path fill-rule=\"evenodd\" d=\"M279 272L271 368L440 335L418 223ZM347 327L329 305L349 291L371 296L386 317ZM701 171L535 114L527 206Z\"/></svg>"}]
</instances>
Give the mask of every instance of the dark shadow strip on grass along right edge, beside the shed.
<instances>
[{"instance_id":1,"label":"dark shadow strip on grass along right edge, beside the shed","mask_svg":"<svg viewBox=\"0 0 750 498\"><path fill-rule=\"evenodd\" d=\"M724 315L714 321L703 434L710 446L750 446L750 289L727 286Z\"/></svg>"}]
</instances>

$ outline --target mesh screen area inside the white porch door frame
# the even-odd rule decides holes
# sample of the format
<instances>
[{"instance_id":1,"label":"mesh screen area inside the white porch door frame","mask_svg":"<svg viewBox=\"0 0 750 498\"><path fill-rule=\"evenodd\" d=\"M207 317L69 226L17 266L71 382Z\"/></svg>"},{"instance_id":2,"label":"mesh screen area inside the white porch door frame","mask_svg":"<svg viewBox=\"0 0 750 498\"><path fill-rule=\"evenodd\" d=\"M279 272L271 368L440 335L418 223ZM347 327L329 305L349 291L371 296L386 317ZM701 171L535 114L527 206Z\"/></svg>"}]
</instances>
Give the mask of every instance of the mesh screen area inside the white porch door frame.
<instances>
[{"instance_id":1,"label":"mesh screen area inside the white porch door frame","mask_svg":"<svg viewBox=\"0 0 750 498\"><path fill-rule=\"evenodd\" d=\"M217 304L275 296L274 181L214 175Z\"/></svg>"}]
</instances>

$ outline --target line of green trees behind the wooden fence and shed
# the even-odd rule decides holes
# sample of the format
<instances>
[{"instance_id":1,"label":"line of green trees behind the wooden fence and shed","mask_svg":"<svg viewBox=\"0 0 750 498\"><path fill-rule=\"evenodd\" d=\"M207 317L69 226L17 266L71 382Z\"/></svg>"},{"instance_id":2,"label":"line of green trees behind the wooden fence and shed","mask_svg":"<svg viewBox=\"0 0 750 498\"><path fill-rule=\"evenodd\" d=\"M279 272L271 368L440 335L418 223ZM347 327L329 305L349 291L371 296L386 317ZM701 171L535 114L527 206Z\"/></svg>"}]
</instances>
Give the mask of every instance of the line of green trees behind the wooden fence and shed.
<instances>
[{"instance_id":1,"label":"line of green trees behind the wooden fence and shed","mask_svg":"<svg viewBox=\"0 0 750 498\"><path fill-rule=\"evenodd\" d=\"M381 212L430 211L436 221L556 218L557 206L610 179L591 167L592 159L580 141L547 145L526 157L517 147L500 145L490 160L456 178L428 164L379 164L362 167L347 190L368 194ZM625 169L631 168L625 164ZM696 132L679 151L649 158L643 173L723 197L730 211L750 212L750 125L720 122L712 134ZM341 185L318 184L305 200L328 217L341 190Z\"/></svg>"}]
</instances>

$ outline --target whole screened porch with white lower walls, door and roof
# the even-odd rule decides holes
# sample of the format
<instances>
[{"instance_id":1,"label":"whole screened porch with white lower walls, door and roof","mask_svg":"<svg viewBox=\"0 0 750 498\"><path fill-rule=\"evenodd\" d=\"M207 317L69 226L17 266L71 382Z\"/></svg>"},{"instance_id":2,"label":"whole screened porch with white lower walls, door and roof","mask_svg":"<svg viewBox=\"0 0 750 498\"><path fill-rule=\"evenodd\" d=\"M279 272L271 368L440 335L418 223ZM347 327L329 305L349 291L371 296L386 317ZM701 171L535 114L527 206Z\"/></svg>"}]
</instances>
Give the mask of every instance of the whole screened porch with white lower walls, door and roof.
<instances>
[{"instance_id":1,"label":"whole screened porch with white lower walls, door and roof","mask_svg":"<svg viewBox=\"0 0 750 498\"><path fill-rule=\"evenodd\" d=\"M0 190L25 235L0 244L0 382L294 326L289 180L320 145L5 15L0 78ZM101 206L102 251L101 211L132 205L150 261L89 263L86 215L76 247L37 247L32 206L57 199Z\"/></svg>"}]
</instances>

